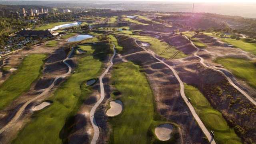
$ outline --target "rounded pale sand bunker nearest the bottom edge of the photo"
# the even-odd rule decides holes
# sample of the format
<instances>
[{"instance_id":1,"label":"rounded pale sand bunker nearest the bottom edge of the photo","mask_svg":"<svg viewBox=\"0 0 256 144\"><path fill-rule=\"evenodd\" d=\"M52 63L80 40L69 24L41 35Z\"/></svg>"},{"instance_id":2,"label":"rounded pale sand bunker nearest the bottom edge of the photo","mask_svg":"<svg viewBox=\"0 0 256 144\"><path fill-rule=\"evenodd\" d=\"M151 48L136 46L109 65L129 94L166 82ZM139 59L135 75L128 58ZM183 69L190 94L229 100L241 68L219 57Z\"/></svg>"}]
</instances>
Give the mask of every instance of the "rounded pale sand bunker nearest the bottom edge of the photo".
<instances>
[{"instance_id":1,"label":"rounded pale sand bunker nearest the bottom edge of the photo","mask_svg":"<svg viewBox=\"0 0 256 144\"><path fill-rule=\"evenodd\" d=\"M155 128L155 134L159 140L166 141L171 138L172 129L171 124L162 124Z\"/></svg>"}]
</instances>

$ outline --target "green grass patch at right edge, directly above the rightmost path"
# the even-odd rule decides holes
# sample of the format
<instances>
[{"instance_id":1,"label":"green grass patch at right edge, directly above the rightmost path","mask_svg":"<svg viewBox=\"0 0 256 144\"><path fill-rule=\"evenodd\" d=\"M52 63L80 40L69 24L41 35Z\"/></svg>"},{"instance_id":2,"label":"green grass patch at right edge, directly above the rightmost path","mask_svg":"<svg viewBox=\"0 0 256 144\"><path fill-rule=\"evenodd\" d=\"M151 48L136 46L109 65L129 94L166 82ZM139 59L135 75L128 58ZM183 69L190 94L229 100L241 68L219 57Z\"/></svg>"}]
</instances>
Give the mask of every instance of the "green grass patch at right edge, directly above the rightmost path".
<instances>
[{"instance_id":1,"label":"green grass patch at right edge, directly above the rightmost path","mask_svg":"<svg viewBox=\"0 0 256 144\"><path fill-rule=\"evenodd\" d=\"M230 70L234 76L245 80L256 89L256 65L254 62L241 58L219 58L217 63Z\"/></svg>"}]
</instances>

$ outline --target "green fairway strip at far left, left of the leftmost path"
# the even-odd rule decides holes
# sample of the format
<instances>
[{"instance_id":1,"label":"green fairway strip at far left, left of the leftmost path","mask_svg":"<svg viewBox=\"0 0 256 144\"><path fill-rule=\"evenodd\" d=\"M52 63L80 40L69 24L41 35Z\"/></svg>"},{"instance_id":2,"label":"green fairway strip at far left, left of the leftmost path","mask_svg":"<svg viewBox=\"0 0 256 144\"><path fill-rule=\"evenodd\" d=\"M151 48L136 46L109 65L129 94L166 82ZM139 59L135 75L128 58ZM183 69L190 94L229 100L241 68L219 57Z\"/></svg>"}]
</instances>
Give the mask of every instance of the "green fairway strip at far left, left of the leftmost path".
<instances>
[{"instance_id":1,"label":"green fairway strip at far left, left of the leftmost path","mask_svg":"<svg viewBox=\"0 0 256 144\"><path fill-rule=\"evenodd\" d=\"M30 88L40 74L45 57L44 54L26 56L20 68L0 86L0 110Z\"/></svg>"}]
</instances>

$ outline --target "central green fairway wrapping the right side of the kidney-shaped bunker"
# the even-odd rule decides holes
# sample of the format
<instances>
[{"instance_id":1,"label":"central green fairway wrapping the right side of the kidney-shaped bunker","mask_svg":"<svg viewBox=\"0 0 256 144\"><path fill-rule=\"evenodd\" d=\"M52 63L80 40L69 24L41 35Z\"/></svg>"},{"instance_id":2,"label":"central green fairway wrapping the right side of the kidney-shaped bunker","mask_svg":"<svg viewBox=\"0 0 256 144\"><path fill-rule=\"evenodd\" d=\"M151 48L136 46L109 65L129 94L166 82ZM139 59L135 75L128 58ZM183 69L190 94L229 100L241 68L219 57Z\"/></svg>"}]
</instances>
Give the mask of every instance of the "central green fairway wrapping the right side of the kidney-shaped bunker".
<instances>
[{"instance_id":1,"label":"central green fairway wrapping the right side of the kidney-shaped bunker","mask_svg":"<svg viewBox=\"0 0 256 144\"><path fill-rule=\"evenodd\" d=\"M110 118L111 144L146 144L147 132L153 122L154 104L150 86L140 68L132 62L115 65L112 84L122 93L121 115Z\"/></svg>"}]
</instances>

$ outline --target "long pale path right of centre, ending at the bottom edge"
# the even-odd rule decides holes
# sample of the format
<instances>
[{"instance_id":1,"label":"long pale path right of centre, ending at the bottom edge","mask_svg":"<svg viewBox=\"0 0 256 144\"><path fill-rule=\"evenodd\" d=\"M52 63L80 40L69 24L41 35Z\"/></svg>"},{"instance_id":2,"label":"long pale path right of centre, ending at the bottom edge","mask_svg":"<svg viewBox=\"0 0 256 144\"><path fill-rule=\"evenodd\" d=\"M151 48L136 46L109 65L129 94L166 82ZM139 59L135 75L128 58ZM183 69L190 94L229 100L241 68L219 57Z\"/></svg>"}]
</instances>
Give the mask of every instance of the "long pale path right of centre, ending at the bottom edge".
<instances>
[{"instance_id":1,"label":"long pale path right of centre, ending at the bottom edge","mask_svg":"<svg viewBox=\"0 0 256 144\"><path fill-rule=\"evenodd\" d=\"M182 82L182 80L180 80L180 77L178 76L176 70L174 70L174 68L172 68L171 66L169 66L168 64L166 64L163 60L160 60L159 58L156 57L156 54L154 52L152 52L151 50L146 50L144 47L140 46L137 41L135 40L135 43L137 44L137 46L139 46L140 48L142 48L143 50L145 50L146 52L149 52L156 60L158 60L159 62L161 62L162 64L166 65L170 70L172 70L174 76L177 78L178 82L180 83L180 95L183 98L184 102L187 104L189 110L191 111L193 117L195 118L196 122L198 123L198 126L202 129L202 131L204 132L204 134L206 135L207 139L209 140L209 142L211 144L216 144L215 140L213 139L212 135L210 134L210 132L207 130L207 128L204 126L204 123L201 121L201 119L199 118L199 116L196 114L196 111L194 109L194 107L192 106L192 104L190 104L190 102L188 101L188 99L186 98L185 92L184 92L184 84Z\"/></svg>"}]
</instances>

